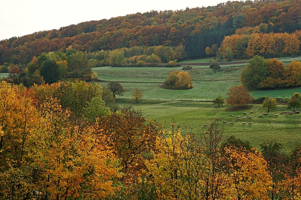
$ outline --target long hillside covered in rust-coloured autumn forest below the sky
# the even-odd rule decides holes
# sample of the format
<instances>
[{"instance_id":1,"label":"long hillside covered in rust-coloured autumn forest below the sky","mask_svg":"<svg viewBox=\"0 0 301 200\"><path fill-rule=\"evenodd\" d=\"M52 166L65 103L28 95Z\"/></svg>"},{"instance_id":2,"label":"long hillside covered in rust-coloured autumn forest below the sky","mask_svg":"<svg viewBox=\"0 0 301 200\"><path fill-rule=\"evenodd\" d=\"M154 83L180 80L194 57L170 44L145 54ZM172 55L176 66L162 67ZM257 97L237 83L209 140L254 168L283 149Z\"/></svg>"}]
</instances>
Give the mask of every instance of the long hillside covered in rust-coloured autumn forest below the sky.
<instances>
[{"instance_id":1,"label":"long hillside covered in rust-coloured autumn forest below the sky","mask_svg":"<svg viewBox=\"0 0 301 200\"><path fill-rule=\"evenodd\" d=\"M231 43L230 50L228 48L228 51L225 51L228 55L224 57L229 57L229 54L236 57L251 57L254 54L273 53L261 49L244 51L250 46L248 42L254 41L254 38L259 40L259 37L260 42L267 37L270 38L272 34L274 37L287 38L287 33L292 35L300 29L300 0L228 1L207 8L138 12L123 17L72 24L59 30L12 37L0 41L0 64L13 63L25 66L34 56L38 57L43 52L53 51L65 53L70 45L77 51L87 53L135 46L164 45L172 47L173 50L183 46L185 54L176 58L177 60L202 58L206 56L206 47L212 48L211 53L216 54L225 36L232 34L235 34L235 37L243 34L244 42L240 44L244 46L240 47L241 52L232 52L234 47ZM231 38L234 39L234 36ZM297 36L293 35L293 38L300 40L300 34ZM224 43L223 50L226 50ZM276 53L298 55L300 44L295 50L286 49L284 52Z\"/></svg>"}]
</instances>

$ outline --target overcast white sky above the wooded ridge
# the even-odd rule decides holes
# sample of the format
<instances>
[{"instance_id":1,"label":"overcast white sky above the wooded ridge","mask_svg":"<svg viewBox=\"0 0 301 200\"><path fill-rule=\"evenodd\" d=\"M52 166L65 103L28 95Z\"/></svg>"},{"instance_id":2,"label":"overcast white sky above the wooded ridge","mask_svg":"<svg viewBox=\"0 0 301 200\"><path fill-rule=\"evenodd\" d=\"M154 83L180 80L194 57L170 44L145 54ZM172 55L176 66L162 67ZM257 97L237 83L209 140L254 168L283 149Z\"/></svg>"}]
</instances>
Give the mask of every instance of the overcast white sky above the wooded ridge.
<instances>
[{"instance_id":1,"label":"overcast white sky above the wooded ridge","mask_svg":"<svg viewBox=\"0 0 301 200\"><path fill-rule=\"evenodd\" d=\"M0 0L0 40L150 10L214 6L227 0Z\"/></svg>"}]
</instances>

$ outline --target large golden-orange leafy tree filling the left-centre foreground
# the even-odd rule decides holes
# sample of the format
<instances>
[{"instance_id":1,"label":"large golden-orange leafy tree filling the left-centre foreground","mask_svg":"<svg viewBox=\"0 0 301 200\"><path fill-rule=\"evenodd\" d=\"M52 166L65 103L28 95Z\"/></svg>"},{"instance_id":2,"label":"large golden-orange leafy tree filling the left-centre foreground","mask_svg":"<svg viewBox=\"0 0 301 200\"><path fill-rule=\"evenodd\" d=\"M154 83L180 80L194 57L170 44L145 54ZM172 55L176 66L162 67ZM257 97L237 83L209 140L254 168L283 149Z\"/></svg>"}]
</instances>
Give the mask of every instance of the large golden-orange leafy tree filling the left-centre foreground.
<instances>
[{"instance_id":1,"label":"large golden-orange leafy tree filling the left-centre foreground","mask_svg":"<svg viewBox=\"0 0 301 200\"><path fill-rule=\"evenodd\" d=\"M113 192L117 160L107 138L94 126L70 120L56 99L41 105L43 119L35 138L35 163L43 172L38 191L43 198L99 198Z\"/></svg>"}]
</instances>

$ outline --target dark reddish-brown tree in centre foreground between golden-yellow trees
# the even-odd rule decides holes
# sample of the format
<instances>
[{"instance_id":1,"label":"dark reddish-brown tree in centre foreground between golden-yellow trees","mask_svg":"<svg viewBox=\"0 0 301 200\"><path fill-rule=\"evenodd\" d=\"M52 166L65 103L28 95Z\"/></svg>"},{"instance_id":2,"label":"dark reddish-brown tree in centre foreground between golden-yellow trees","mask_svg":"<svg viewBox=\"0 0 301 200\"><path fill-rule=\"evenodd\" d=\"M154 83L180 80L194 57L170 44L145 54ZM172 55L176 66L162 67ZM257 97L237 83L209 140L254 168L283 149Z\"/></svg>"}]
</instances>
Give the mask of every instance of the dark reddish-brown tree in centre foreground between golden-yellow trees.
<instances>
[{"instance_id":1,"label":"dark reddish-brown tree in centre foreground between golden-yellow trees","mask_svg":"<svg viewBox=\"0 0 301 200\"><path fill-rule=\"evenodd\" d=\"M142 177L145 173L144 160L154 148L159 132L156 122L150 120L145 125L142 113L131 107L101 118L101 122L108 130L109 145L120 160L122 182L127 184Z\"/></svg>"}]
</instances>

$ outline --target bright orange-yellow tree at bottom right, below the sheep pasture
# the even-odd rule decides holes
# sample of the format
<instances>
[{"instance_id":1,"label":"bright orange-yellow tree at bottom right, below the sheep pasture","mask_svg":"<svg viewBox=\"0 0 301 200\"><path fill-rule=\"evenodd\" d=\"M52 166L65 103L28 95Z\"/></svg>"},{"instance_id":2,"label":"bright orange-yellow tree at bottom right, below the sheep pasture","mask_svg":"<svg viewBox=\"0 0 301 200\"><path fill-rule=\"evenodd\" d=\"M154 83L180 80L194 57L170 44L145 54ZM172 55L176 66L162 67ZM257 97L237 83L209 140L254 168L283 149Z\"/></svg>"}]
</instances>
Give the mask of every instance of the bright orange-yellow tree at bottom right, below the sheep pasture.
<instances>
[{"instance_id":1,"label":"bright orange-yellow tree at bottom right, below the sheep pasture","mask_svg":"<svg viewBox=\"0 0 301 200\"><path fill-rule=\"evenodd\" d=\"M229 169L229 186L224 189L226 199L269 199L268 190L273 182L267 162L260 152L253 151L225 148Z\"/></svg>"}]
</instances>

